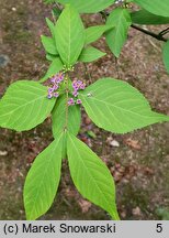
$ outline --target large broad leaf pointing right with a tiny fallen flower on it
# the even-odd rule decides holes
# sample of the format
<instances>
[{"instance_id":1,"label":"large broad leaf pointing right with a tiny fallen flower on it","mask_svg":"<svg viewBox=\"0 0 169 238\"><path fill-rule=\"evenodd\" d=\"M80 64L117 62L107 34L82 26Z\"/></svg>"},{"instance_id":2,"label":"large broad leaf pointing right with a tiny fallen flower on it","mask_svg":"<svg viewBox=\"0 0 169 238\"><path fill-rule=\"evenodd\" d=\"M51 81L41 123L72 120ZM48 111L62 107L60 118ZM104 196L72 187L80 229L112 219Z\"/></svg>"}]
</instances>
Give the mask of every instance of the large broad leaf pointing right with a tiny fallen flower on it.
<instances>
[{"instance_id":1,"label":"large broad leaf pointing right with a tiny fallen flower on it","mask_svg":"<svg viewBox=\"0 0 169 238\"><path fill-rule=\"evenodd\" d=\"M122 80L100 79L81 91L79 98L98 127L115 133L169 121L169 117L151 111L144 96Z\"/></svg>"}]
</instances>

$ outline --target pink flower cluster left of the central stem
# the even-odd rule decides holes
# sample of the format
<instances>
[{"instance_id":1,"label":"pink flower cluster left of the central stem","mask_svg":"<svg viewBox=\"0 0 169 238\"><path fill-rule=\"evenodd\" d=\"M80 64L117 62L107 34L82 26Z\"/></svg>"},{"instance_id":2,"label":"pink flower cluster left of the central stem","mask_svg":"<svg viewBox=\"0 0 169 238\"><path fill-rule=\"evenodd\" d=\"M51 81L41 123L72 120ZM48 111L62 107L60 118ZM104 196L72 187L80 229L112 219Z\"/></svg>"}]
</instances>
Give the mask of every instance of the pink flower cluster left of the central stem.
<instances>
[{"instance_id":1,"label":"pink flower cluster left of the central stem","mask_svg":"<svg viewBox=\"0 0 169 238\"><path fill-rule=\"evenodd\" d=\"M59 96L59 93L57 89L60 86L60 83L64 80L64 75L61 73L54 75L50 78L52 86L48 88L48 95L47 98L52 99L53 97L57 98Z\"/></svg>"}]
</instances>

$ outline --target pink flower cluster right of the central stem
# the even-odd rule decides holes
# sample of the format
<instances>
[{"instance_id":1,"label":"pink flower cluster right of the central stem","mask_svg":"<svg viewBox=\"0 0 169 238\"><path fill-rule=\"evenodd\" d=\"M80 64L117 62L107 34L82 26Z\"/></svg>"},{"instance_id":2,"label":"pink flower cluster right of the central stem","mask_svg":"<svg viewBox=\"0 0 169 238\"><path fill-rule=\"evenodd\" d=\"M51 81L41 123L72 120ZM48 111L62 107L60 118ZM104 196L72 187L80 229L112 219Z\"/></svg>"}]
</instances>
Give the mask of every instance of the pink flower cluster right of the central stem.
<instances>
[{"instance_id":1,"label":"pink flower cluster right of the central stem","mask_svg":"<svg viewBox=\"0 0 169 238\"><path fill-rule=\"evenodd\" d=\"M78 95L79 95L79 90L83 90L86 88L86 84L81 80L74 80L72 82L72 96L74 98L69 98L68 100L68 105L71 106L71 105L80 105L81 104L81 100L80 99L77 99Z\"/></svg>"}]
</instances>

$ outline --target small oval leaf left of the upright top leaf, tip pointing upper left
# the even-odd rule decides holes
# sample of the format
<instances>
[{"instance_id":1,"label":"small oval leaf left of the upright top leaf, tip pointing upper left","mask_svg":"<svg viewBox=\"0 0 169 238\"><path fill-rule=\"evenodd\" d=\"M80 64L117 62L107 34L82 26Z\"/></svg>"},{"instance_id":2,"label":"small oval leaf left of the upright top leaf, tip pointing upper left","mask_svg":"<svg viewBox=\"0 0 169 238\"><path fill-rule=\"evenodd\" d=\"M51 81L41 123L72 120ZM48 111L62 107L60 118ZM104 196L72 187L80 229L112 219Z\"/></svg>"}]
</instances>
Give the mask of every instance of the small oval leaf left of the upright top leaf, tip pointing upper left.
<instances>
[{"instance_id":1,"label":"small oval leaf left of the upright top leaf, tip pointing upper left","mask_svg":"<svg viewBox=\"0 0 169 238\"><path fill-rule=\"evenodd\" d=\"M41 40L47 53L53 54L53 55L58 55L58 52L55 45L55 40L53 37L42 35Z\"/></svg>"}]
</instances>

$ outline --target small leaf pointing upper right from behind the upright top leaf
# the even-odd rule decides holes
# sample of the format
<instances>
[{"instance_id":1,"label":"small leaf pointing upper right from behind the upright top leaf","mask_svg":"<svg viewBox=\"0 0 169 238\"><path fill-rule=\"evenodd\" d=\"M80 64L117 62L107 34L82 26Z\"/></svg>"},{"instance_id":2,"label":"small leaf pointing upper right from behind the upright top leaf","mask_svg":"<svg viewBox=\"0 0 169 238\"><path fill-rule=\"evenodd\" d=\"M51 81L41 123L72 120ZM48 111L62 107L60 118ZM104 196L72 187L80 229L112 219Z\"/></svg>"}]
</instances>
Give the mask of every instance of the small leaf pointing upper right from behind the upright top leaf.
<instances>
[{"instance_id":1,"label":"small leaf pointing upper right from behind the upright top leaf","mask_svg":"<svg viewBox=\"0 0 169 238\"><path fill-rule=\"evenodd\" d=\"M86 44L90 44L99 40L102 34L112 29L110 25L97 25L86 29Z\"/></svg>"}]
</instances>

